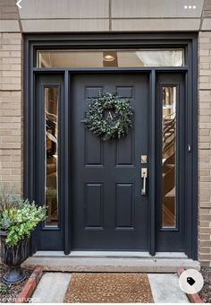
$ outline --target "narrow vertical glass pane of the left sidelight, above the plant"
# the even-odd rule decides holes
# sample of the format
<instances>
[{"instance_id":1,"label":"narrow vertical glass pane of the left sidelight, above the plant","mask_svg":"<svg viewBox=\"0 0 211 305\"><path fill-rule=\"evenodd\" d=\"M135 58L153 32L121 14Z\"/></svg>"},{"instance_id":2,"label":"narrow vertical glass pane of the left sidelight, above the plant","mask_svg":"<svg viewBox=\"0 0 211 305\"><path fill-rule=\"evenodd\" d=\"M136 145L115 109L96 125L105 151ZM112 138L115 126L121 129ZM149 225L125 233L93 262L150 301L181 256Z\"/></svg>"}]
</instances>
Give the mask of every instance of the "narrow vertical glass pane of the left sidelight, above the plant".
<instances>
[{"instance_id":1,"label":"narrow vertical glass pane of the left sidelight, above the plant","mask_svg":"<svg viewBox=\"0 0 211 305\"><path fill-rule=\"evenodd\" d=\"M46 118L46 225L58 222L58 183L57 183L57 87L45 88Z\"/></svg>"}]
</instances>

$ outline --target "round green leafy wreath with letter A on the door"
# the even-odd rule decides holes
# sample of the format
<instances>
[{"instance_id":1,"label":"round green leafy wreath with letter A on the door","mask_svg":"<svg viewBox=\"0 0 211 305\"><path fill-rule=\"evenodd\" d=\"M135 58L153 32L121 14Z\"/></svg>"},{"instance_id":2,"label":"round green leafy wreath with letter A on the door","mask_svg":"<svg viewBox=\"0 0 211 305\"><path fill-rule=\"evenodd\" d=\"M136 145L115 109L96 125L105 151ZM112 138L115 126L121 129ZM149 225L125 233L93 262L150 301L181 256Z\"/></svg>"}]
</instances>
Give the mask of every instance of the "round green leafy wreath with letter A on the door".
<instances>
[{"instance_id":1,"label":"round green leafy wreath with letter A on the door","mask_svg":"<svg viewBox=\"0 0 211 305\"><path fill-rule=\"evenodd\" d=\"M87 117L82 122L103 141L120 139L129 133L132 127L133 109L129 99L116 93L100 92L91 100Z\"/></svg>"}]
</instances>

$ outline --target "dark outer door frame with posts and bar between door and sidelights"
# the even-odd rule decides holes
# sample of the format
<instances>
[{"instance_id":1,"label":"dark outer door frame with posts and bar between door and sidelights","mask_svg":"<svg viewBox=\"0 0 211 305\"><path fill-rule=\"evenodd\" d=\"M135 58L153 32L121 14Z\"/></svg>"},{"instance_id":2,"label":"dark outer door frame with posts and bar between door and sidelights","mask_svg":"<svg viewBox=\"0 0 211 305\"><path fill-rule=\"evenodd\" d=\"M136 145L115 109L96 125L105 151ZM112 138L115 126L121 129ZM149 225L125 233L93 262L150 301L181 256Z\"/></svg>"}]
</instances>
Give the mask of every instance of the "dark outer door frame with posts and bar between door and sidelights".
<instances>
[{"instance_id":1,"label":"dark outer door frame with posts and bar between door and sidelights","mask_svg":"<svg viewBox=\"0 0 211 305\"><path fill-rule=\"evenodd\" d=\"M158 72L183 72L185 74L186 88L186 236L185 253L193 259L198 258L198 107L197 107L197 54L198 35L196 33L91 33L91 34L55 34L55 35L24 35L24 181L23 195L33 200L35 193L35 169L34 163L34 103L35 103L35 76L36 74L63 74L64 79L64 124L69 126L68 96L70 79L73 73L83 72L132 72L148 73L150 83L150 168L149 168L149 253L156 254L156 73ZM36 53L40 49L59 48L184 48L186 65L180 67L143 67L143 68L38 68ZM188 147L191 147L189 152ZM71 181L69 164L68 137L65 135L63 147L63 180ZM70 245L70 190L63 187L64 206L64 253L69 254ZM188 217L188 215L190 215ZM51 229L52 230L52 229ZM36 233L34 234L36 235ZM35 237L34 237L35 238ZM36 248L31 248L31 253Z\"/></svg>"}]
</instances>

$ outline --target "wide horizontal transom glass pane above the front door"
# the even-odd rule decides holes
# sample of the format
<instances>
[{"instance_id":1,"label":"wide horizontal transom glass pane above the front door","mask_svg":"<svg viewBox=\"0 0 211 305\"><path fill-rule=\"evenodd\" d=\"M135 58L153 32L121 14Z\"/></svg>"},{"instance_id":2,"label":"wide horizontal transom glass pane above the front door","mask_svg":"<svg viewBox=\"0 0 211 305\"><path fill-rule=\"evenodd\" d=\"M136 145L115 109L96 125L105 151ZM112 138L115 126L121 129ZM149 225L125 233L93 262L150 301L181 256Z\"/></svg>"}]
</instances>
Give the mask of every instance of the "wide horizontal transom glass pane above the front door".
<instances>
[{"instance_id":1,"label":"wide horizontal transom glass pane above the front door","mask_svg":"<svg viewBox=\"0 0 211 305\"><path fill-rule=\"evenodd\" d=\"M141 67L184 65L183 49L44 50L38 51L38 67Z\"/></svg>"}]
</instances>

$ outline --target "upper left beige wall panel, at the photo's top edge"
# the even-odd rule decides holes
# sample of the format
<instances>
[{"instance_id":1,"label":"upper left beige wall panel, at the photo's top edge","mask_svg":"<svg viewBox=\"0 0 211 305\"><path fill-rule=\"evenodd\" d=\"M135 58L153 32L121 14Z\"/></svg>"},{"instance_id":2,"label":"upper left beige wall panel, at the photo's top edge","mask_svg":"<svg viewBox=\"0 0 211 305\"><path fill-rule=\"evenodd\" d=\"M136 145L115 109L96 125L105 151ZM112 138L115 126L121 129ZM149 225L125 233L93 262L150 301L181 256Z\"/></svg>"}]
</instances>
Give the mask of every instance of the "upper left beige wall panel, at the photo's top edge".
<instances>
[{"instance_id":1,"label":"upper left beige wall panel, at the photo's top edge","mask_svg":"<svg viewBox=\"0 0 211 305\"><path fill-rule=\"evenodd\" d=\"M21 19L108 18L108 0L27 0Z\"/></svg>"}]
</instances>

